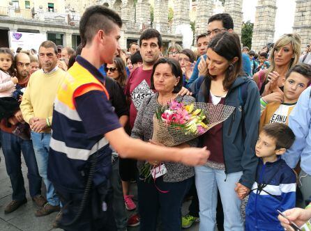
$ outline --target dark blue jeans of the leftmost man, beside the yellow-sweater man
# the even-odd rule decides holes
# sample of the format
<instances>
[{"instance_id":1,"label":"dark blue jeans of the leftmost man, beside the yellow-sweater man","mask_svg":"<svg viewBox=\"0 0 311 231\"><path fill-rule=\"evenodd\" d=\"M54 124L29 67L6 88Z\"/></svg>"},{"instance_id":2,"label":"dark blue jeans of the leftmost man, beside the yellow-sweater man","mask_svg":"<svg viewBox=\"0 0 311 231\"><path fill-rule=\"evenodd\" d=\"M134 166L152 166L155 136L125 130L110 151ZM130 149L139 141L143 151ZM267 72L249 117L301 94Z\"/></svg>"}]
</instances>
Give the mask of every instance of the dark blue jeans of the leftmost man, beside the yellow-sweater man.
<instances>
[{"instance_id":1,"label":"dark blue jeans of the leftmost man, beside the yellow-sweater man","mask_svg":"<svg viewBox=\"0 0 311 231\"><path fill-rule=\"evenodd\" d=\"M13 200L24 200L26 190L24 186L24 177L22 175L21 152L24 156L28 168L29 193L31 197L41 194L41 177L38 173L38 166L33 152L31 141L24 141L22 138L1 131L1 143L4 159L6 161L6 172L10 177L12 184Z\"/></svg>"}]
</instances>

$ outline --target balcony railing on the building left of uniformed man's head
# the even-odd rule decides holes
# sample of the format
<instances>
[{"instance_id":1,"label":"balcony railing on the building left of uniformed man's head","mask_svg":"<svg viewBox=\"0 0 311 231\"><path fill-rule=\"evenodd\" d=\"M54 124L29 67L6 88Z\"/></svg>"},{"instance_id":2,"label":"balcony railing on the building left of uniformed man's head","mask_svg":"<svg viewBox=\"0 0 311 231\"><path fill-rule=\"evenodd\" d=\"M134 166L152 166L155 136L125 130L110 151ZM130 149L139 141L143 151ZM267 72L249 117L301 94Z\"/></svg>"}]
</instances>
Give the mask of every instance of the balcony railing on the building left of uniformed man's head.
<instances>
[{"instance_id":1,"label":"balcony railing on the building left of uniformed man's head","mask_svg":"<svg viewBox=\"0 0 311 231\"><path fill-rule=\"evenodd\" d=\"M70 26L79 25L80 16L77 13L45 12L45 10L21 9L15 7L0 7L0 19L18 19L22 21L48 22Z\"/></svg>"}]
</instances>

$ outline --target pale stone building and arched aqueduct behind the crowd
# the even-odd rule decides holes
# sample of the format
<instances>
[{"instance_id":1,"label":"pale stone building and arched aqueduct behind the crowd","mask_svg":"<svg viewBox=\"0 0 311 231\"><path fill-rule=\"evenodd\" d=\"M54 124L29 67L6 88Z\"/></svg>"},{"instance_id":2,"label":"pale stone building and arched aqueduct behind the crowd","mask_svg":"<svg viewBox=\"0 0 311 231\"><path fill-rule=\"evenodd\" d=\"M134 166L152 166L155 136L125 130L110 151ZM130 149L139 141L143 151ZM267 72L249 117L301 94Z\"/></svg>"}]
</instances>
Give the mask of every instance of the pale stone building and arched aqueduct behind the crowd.
<instances>
[{"instance_id":1,"label":"pale stone building and arched aqueduct behind the crowd","mask_svg":"<svg viewBox=\"0 0 311 231\"><path fill-rule=\"evenodd\" d=\"M220 11L223 10L232 15L234 31L241 38L243 0L225 0L224 6L221 6L219 0L192 1L1 0L0 45L3 45L1 38L8 31L30 31L46 33L47 38L52 40L55 38L56 43L76 47L79 43L79 19L85 8L94 4L108 6L121 15L123 19L121 47L128 47L130 42L137 42L142 31L151 27L160 31L166 47L174 42L181 43L183 47L190 47L193 36L190 15L192 20L195 19L195 35L206 33L208 19L215 13L216 6L221 8ZM153 6L153 22L151 22L151 4ZM172 22L168 22L169 6L174 10ZM191 6L195 6L195 15L190 12L192 11ZM276 10L276 0L257 0L252 49L258 51L267 42L273 42ZM296 0L293 31L301 35L303 47L310 42L311 0Z\"/></svg>"}]
</instances>

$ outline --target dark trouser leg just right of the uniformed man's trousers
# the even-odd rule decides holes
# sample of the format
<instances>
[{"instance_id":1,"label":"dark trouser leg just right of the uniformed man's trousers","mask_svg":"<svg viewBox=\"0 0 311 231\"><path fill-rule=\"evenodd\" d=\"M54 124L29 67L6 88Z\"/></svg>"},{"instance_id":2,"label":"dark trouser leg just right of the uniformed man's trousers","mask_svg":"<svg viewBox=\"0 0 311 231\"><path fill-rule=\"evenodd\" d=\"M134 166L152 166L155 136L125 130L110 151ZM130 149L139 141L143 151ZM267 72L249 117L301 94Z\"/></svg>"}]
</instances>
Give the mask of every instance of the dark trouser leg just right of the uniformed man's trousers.
<instances>
[{"instance_id":1,"label":"dark trouser leg just right of the uniformed man's trousers","mask_svg":"<svg viewBox=\"0 0 311 231\"><path fill-rule=\"evenodd\" d=\"M128 226L128 215L126 214L126 205L124 204L121 177L119 173L119 158L112 164L112 174L110 175L114 199L112 206L114 208L114 220L118 231L124 231Z\"/></svg>"}]
</instances>

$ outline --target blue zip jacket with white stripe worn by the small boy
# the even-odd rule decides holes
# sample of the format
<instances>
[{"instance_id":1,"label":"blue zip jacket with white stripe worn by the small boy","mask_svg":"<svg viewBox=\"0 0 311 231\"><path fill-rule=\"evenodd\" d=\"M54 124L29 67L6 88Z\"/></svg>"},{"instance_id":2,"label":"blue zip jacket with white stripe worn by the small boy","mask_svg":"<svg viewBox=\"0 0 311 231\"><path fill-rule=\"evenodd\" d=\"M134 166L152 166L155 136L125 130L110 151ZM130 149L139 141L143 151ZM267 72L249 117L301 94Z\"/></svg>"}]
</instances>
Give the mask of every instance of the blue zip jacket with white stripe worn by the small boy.
<instances>
[{"instance_id":1,"label":"blue zip jacket with white stripe worn by the small boy","mask_svg":"<svg viewBox=\"0 0 311 231\"><path fill-rule=\"evenodd\" d=\"M295 207L296 175L283 159L270 163L260 159L256 181L246 206L245 230L284 230L278 221L281 212Z\"/></svg>"}]
</instances>

